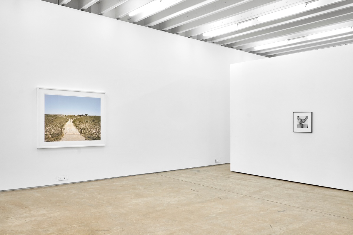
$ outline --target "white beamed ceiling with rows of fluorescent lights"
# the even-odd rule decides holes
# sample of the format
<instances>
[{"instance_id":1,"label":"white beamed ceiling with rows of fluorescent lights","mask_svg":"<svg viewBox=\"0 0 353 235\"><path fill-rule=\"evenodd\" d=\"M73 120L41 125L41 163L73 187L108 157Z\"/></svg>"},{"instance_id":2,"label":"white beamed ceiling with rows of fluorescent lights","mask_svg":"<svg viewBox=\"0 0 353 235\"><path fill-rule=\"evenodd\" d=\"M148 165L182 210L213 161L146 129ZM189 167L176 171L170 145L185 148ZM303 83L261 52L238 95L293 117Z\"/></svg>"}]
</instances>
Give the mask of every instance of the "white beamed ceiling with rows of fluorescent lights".
<instances>
[{"instance_id":1,"label":"white beamed ceiling with rows of fluorescent lights","mask_svg":"<svg viewBox=\"0 0 353 235\"><path fill-rule=\"evenodd\" d=\"M157 0L172 5L134 16L153 0L43 1L267 57L353 43L353 0Z\"/></svg>"}]
</instances>

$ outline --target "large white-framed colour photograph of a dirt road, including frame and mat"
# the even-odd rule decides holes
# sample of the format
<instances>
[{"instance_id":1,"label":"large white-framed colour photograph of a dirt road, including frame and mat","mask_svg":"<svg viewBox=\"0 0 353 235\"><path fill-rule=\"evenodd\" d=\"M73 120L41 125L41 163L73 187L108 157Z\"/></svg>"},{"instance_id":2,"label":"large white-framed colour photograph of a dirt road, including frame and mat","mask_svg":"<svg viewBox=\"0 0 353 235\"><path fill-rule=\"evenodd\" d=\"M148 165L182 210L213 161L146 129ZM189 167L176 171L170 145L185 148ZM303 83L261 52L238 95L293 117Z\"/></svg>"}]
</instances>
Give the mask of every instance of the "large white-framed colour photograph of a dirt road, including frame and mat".
<instances>
[{"instance_id":1,"label":"large white-framed colour photograph of a dirt road, including frame and mat","mask_svg":"<svg viewBox=\"0 0 353 235\"><path fill-rule=\"evenodd\" d=\"M105 145L105 93L37 88L37 148Z\"/></svg>"}]
</instances>

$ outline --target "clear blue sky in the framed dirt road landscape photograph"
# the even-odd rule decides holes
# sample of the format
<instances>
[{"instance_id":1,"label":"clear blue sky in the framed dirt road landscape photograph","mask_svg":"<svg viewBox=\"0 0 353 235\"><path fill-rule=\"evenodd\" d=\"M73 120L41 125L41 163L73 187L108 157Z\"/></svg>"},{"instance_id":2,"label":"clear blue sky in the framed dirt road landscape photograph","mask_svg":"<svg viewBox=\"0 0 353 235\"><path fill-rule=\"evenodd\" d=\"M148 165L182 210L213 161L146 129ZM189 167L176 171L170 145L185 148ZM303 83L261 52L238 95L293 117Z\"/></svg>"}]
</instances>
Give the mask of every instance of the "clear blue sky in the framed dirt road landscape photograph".
<instances>
[{"instance_id":1,"label":"clear blue sky in the framed dirt road landscape photograph","mask_svg":"<svg viewBox=\"0 0 353 235\"><path fill-rule=\"evenodd\" d=\"M70 95L44 95L44 114L101 115L101 98Z\"/></svg>"}]
</instances>

